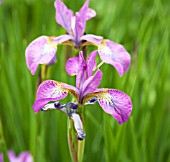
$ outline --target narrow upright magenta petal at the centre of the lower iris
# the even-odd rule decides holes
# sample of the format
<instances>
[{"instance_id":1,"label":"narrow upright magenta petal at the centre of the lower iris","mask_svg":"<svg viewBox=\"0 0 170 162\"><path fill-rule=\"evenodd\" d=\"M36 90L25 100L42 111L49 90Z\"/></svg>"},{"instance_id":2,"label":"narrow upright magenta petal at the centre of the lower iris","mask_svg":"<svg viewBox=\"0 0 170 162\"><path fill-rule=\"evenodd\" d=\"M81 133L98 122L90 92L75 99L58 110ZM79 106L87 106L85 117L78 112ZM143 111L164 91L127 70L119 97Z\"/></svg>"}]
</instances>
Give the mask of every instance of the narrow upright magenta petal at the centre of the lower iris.
<instances>
[{"instance_id":1,"label":"narrow upright magenta petal at the centre of the lower iris","mask_svg":"<svg viewBox=\"0 0 170 162\"><path fill-rule=\"evenodd\" d=\"M79 66L78 66L78 72L76 77L76 87L78 89L81 89L85 80L87 80L88 74L87 74L87 64L83 57L83 52L79 52Z\"/></svg>"}]
</instances>

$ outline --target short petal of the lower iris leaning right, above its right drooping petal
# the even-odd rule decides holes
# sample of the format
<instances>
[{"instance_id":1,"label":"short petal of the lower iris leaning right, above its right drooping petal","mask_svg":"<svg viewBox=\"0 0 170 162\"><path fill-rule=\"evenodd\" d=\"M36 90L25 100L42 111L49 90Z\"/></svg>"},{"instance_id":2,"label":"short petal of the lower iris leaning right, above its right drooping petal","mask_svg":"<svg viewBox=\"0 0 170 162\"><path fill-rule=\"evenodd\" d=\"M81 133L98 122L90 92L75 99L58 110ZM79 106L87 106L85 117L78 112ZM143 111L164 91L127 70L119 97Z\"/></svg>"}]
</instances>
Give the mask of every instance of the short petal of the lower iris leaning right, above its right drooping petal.
<instances>
[{"instance_id":1,"label":"short petal of the lower iris leaning right, above its right drooping petal","mask_svg":"<svg viewBox=\"0 0 170 162\"><path fill-rule=\"evenodd\" d=\"M100 85L100 81L102 79L102 72L97 70L94 76L88 78L84 84L82 91L80 92L82 96L85 96L87 93L91 93L97 90Z\"/></svg>"}]
</instances>

